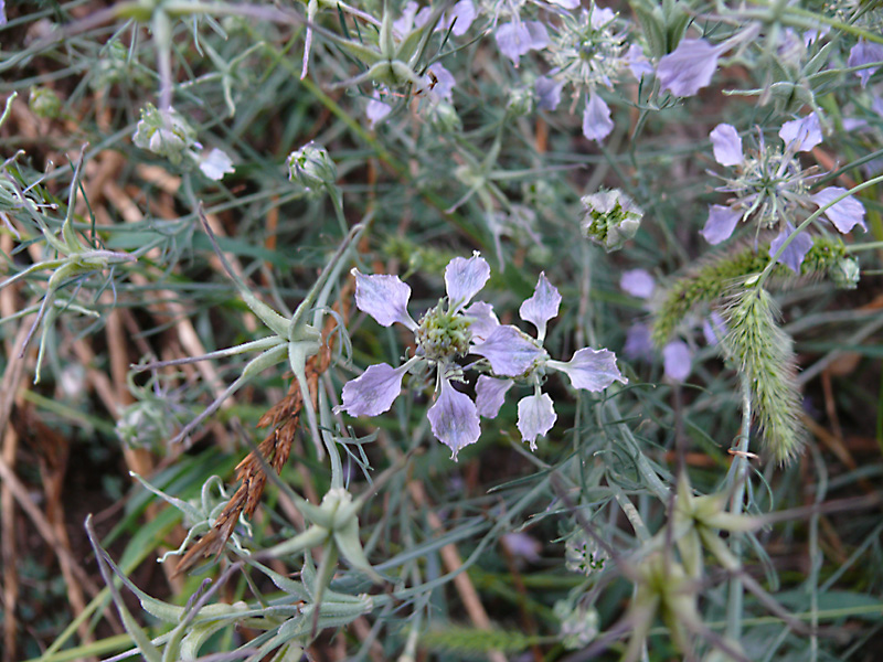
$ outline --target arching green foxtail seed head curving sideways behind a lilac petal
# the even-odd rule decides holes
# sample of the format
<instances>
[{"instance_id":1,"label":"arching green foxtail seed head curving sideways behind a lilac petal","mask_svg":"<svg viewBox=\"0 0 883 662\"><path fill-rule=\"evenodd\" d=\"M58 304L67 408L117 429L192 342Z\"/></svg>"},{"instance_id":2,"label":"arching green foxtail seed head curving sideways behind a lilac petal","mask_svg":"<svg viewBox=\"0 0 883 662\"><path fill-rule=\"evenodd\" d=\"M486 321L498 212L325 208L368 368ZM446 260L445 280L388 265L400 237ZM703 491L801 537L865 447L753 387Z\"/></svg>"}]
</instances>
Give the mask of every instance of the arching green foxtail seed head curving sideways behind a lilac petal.
<instances>
[{"instance_id":1,"label":"arching green foxtail seed head curving sideways behind a lilac petal","mask_svg":"<svg viewBox=\"0 0 883 662\"><path fill-rule=\"evenodd\" d=\"M785 265L776 265L770 274L774 282L787 285L798 278L830 277L834 285L844 287L838 268L848 260L847 247L837 237L813 237L809 249L800 265L797 276ZM733 287L734 282L743 282L752 274L759 274L769 264L769 244L760 244L755 250L745 246L731 254L712 257L689 276L679 278L669 288L662 305L653 319L652 340L658 348L671 340L678 324L698 306L713 303ZM854 287L852 285L851 287Z\"/></svg>"}]
</instances>

